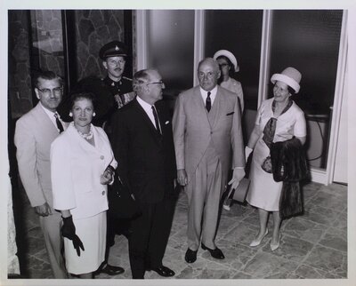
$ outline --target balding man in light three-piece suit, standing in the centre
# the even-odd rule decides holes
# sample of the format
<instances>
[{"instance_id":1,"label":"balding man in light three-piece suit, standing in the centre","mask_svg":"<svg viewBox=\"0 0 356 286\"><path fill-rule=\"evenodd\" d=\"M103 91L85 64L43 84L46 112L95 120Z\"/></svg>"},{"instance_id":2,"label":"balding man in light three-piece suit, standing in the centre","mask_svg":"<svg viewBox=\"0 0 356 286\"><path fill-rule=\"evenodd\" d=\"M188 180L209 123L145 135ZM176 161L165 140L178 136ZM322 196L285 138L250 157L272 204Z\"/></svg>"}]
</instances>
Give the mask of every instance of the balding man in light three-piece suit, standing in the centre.
<instances>
[{"instance_id":1,"label":"balding man in light three-piece suit, standing in the centre","mask_svg":"<svg viewBox=\"0 0 356 286\"><path fill-rule=\"evenodd\" d=\"M219 202L226 187L229 168L235 188L245 175L245 155L238 98L217 85L220 69L206 58L199 62L199 86L182 92L174 107L174 147L178 183L188 195L188 250L185 260L197 259L201 247L212 257L223 259L214 237Z\"/></svg>"}]
</instances>

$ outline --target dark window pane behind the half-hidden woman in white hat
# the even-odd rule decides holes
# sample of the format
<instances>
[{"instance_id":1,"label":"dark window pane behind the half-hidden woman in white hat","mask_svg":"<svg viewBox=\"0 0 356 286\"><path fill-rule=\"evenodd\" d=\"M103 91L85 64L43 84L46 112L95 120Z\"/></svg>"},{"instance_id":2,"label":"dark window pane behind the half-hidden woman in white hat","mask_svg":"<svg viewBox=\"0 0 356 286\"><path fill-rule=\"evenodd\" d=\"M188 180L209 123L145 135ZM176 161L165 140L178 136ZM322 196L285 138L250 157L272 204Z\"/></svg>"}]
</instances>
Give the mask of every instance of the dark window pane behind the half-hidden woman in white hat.
<instances>
[{"instance_id":1,"label":"dark window pane behind the half-hidden woman in white hat","mask_svg":"<svg viewBox=\"0 0 356 286\"><path fill-rule=\"evenodd\" d=\"M207 10L206 57L218 50L232 52L238 60L235 78L241 83L247 109L257 108L260 73L261 10Z\"/></svg>"}]
</instances>

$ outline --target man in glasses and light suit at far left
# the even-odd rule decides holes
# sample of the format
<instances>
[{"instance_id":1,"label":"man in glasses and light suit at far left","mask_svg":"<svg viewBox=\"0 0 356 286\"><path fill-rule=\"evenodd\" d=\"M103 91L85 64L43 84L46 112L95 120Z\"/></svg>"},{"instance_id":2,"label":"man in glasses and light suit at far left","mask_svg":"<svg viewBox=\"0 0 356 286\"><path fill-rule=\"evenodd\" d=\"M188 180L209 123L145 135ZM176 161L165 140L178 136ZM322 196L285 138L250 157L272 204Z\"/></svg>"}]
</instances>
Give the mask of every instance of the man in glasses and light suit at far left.
<instances>
[{"instance_id":1,"label":"man in glasses and light suit at far left","mask_svg":"<svg viewBox=\"0 0 356 286\"><path fill-rule=\"evenodd\" d=\"M51 143L67 127L56 112L62 99L62 82L60 76L45 71L34 83L39 102L16 123L16 157L29 203L39 216L54 278L62 279L68 274L61 256L61 214L53 210L50 164Z\"/></svg>"}]
</instances>

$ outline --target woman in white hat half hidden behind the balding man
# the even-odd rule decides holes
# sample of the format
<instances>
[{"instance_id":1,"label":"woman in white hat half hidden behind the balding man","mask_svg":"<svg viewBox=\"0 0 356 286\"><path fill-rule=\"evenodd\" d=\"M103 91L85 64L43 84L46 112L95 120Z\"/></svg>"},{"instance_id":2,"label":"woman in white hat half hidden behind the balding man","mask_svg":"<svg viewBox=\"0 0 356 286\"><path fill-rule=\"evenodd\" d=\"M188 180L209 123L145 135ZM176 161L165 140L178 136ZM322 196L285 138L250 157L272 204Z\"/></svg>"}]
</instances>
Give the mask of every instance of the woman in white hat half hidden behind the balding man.
<instances>
[{"instance_id":1,"label":"woman in white hat half hidden behind the balding man","mask_svg":"<svg viewBox=\"0 0 356 286\"><path fill-rule=\"evenodd\" d=\"M244 111L244 93L242 92L242 86L241 83L231 77L234 73L239 71L238 61L232 52L227 50L215 52L213 58L219 64L222 73L219 80L220 86L238 95L242 114Z\"/></svg>"}]
</instances>

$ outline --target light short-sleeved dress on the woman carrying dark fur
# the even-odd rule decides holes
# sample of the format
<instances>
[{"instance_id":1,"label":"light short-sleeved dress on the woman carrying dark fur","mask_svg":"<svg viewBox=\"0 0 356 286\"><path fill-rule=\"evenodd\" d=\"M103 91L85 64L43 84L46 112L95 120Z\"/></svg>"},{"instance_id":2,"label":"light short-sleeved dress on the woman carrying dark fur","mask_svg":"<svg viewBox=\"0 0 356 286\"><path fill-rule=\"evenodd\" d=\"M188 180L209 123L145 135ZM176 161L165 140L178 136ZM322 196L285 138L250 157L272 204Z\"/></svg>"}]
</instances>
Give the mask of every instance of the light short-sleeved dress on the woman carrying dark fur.
<instances>
[{"instance_id":1,"label":"light short-sleeved dress on the woman carrying dark fur","mask_svg":"<svg viewBox=\"0 0 356 286\"><path fill-rule=\"evenodd\" d=\"M273 117L272 102L273 98L263 101L257 112L255 124L262 134L255 145L250 171L251 185L247 193L247 202L265 211L279 211L279 196L283 185L283 182L274 181L273 175L261 167L264 159L270 155L270 148L263 141L263 129ZM279 115L273 142L285 141L293 136L306 136L304 114L295 102L287 112Z\"/></svg>"}]
</instances>

